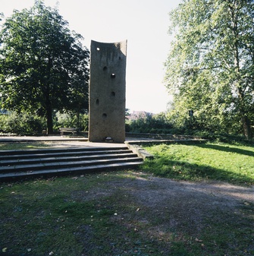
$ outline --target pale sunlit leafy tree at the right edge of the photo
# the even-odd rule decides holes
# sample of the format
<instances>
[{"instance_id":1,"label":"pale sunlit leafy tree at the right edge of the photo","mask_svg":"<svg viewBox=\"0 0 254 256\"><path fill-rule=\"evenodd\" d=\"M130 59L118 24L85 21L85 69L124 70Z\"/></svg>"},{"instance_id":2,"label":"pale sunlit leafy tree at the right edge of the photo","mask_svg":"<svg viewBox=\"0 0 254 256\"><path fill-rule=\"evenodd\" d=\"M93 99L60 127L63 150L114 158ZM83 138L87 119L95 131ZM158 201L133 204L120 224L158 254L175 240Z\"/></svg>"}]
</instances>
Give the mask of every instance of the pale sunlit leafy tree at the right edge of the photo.
<instances>
[{"instance_id":1,"label":"pale sunlit leafy tree at the right edge of the photo","mask_svg":"<svg viewBox=\"0 0 254 256\"><path fill-rule=\"evenodd\" d=\"M165 82L178 114L193 109L207 126L241 129L250 139L254 2L183 0L170 17L175 40L165 63Z\"/></svg>"}]
</instances>

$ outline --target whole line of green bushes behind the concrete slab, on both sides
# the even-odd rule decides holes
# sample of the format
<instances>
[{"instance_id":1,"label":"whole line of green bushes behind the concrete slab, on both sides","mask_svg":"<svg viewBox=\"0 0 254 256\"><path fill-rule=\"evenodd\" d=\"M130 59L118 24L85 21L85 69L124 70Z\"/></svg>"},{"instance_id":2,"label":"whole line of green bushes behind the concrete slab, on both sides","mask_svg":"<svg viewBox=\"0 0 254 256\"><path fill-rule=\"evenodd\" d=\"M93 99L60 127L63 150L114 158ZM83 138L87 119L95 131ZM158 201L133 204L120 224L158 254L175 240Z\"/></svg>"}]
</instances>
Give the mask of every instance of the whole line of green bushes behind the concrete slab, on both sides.
<instances>
[{"instance_id":1,"label":"whole line of green bushes behind the concrete slab, on both sides","mask_svg":"<svg viewBox=\"0 0 254 256\"><path fill-rule=\"evenodd\" d=\"M202 136L209 139L219 139L228 141L229 139L242 140L244 132L241 123L227 120L227 125L221 125L220 120L215 122L196 115L176 116L174 110L161 112L157 115L146 113L146 115L137 117L135 120L126 119L125 130L128 133L149 133L149 134L185 134ZM8 115L0 115L0 133L1 134L42 134L46 129L46 120L39 115L30 115L23 112L11 112ZM72 112L54 112L53 131L59 134L60 127L79 128L80 132L88 131L89 116L82 113L77 120L76 113Z\"/></svg>"}]
</instances>

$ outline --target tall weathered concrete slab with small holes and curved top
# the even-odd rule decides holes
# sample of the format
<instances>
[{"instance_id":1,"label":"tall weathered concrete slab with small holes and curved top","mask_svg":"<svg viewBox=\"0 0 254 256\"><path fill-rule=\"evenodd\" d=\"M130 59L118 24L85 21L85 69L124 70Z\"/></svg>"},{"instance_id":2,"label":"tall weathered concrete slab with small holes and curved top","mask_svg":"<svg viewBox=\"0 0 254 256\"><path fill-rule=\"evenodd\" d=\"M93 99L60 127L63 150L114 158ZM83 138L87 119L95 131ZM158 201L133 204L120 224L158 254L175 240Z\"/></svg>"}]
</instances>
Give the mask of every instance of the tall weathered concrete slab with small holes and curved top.
<instances>
[{"instance_id":1,"label":"tall weathered concrete slab with small holes and curved top","mask_svg":"<svg viewBox=\"0 0 254 256\"><path fill-rule=\"evenodd\" d=\"M89 141L125 141L127 41L91 42Z\"/></svg>"}]
</instances>

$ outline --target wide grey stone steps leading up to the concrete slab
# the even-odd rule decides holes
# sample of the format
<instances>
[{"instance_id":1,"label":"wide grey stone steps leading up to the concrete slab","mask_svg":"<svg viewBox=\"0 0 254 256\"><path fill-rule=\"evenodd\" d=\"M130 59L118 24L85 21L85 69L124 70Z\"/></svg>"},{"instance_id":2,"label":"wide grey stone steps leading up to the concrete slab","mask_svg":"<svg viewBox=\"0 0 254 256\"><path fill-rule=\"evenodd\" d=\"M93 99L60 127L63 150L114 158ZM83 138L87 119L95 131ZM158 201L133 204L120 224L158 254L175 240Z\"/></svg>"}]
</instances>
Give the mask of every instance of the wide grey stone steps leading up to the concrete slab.
<instances>
[{"instance_id":1,"label":"wide grey stone steps leading up to the concrete slab","mask_svg":"<svg viewBox=\"0 0 254 256\"><path fill-rule=\"evenodd\" d=\"M86 147L0 151L0 181L133 169L143 159L128 147Z\"/></svg>"}]
</instances>

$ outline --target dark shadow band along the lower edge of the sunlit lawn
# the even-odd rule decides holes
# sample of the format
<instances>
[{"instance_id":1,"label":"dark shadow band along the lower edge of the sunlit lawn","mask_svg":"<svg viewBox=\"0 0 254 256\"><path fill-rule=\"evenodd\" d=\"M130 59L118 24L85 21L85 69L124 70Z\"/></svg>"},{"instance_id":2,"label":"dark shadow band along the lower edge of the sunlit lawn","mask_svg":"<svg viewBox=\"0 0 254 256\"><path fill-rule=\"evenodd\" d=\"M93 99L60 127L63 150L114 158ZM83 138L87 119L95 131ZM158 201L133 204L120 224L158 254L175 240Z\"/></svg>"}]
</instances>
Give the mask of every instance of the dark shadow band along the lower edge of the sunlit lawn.
<instances>
[{"instance_id":1,"label":"dark shadow band along the lower edge of the sunlit lawn","mask_svg":"<svg viewBox=\"0 0 254 256\"><path fill-rule=\"evenodd\" d=\"M202 180L216 180L230 182L238 185L253 185L254 180L247 175L230 172L227 169L218 169L211 166L198 165L177 160L168 160L160 157L156 161L146 160L141 166L145 172L150 172L159 177L177 180L199 182Z\"/></svg>"}]
</instances>

